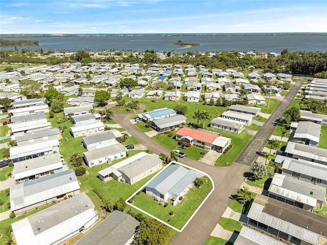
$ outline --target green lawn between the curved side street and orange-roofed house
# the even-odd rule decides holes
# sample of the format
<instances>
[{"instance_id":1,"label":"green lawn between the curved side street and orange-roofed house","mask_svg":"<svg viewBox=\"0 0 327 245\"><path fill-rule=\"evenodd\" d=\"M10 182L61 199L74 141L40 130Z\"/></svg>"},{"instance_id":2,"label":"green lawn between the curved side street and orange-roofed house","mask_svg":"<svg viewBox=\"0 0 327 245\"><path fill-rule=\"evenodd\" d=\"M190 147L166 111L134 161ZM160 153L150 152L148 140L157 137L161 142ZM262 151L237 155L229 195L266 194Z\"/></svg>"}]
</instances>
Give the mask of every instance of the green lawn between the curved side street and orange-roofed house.
<instances>
[{"instance_id":1,"label":"green lawn between the curved side street and orange-roofed house","mask_svg":"<svg viewBox=\"0 0 327 245\"><path fill-rule=\"evenodd\" d=\"M201 158L203 158L203 155L199 154L201 151L205 152L205 153L208 152L207 150L196 147L196 146L191 146L189 148L182 149L178 145L178 141L174 140L174 137L175 137L175 132L172 137L168 137L168 135L156 135L156 136L152 137L151 139L155 140L156 142L158 142L159 144L165 146L166 148L168 148L170 150L178 149L178 150L184 152L186 155L188 155L188 158L193 159L195 161L198 161Z\"/></svg>"}]
</instances>

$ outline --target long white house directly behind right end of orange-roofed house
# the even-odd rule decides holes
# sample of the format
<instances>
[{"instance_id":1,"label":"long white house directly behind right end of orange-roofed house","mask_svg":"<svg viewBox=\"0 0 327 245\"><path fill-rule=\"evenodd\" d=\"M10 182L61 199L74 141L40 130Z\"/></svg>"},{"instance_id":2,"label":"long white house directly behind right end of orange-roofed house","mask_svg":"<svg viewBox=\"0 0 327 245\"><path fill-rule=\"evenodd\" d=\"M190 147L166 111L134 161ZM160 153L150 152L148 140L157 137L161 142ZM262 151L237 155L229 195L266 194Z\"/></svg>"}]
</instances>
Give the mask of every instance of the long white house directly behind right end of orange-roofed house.
<instances>
[{"instance_id":1,"label":"long white house directly behind right end of orange-roofed house","mask_svg":"<svg viewBox=\"0 0 327 245\"><path fill-rule=\"evenodd\" d=\"M243 131L245 125L245 122L240 122L224 117L214 118L210 123L210 127L212 128L233 132L237 135Z\"/></svg>"}]
</instances>

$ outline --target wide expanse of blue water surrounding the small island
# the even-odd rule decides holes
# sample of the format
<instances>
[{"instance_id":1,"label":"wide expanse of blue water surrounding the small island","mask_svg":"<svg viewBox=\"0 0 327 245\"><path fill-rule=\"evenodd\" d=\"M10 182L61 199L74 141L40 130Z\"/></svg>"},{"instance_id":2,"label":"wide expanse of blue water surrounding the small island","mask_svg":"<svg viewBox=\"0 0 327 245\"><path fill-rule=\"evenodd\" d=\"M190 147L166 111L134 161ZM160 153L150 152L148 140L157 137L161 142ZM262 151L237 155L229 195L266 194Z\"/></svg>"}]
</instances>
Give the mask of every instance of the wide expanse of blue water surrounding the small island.
<instances>
[{"instance_id":1,"label":"wide expanse of blue water surrounding the small island","mask_svg":"<svg viewBox=\"0 0 327 245\"><path fill-rule=\"evenodd\" d=\"M52 51L63 50L133 50L133 51L172 51L176 53L186 51L220 52L239 51L275 52L284 49L290 51L327 51L327 34L115 34L83 35L81 36L46 36L46 37L5 37L4 39L38 40L39 46L17 47L17 49L43 49ZM178 40L184 42L198 42L200 46L180 47L172 43ZM14 47L1 47L14 50Z\"/></svg>"}]
</instances>

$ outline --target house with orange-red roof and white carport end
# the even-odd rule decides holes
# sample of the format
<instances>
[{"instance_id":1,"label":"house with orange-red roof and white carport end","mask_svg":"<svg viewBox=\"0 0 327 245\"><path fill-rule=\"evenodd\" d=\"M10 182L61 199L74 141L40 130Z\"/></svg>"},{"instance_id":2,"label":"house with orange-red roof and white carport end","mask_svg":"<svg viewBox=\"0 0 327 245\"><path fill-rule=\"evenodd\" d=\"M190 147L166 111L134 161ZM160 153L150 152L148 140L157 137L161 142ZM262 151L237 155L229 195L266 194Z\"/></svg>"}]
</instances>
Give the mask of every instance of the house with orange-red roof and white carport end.
<instances>
[{"instance_id":1,"label":"house with orange-red roof and white carport end","mask_svg":"<svg viewBox=\"0 0 327 245\"><path fill-rule=\"evenodd\" d=\"M180 128L176 132L176 140L182 140L192 145L204 145L207 149L213 149L218 152L223 152L230 145L231 141L231 139L222 137L218 133L188 127Z\"/></svg>"}]
</instances>

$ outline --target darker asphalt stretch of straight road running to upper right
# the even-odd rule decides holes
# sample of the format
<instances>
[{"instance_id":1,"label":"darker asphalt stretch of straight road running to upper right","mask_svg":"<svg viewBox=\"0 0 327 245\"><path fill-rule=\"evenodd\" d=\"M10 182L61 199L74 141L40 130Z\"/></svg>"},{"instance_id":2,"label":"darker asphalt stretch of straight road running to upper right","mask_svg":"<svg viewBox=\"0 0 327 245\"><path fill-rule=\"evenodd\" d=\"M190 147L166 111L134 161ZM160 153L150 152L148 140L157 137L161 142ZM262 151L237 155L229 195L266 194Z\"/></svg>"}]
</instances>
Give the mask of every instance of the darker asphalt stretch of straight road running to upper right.
<instances>
[{"instance_id":1,"label":"darker asphalt stretch of straight road running to upper right","mask_svg":"<svg viewBox=\"0 0 327 245\"><path fill-rule=\"evenodd\" d=\"M292 100L299 91L305 79L298 78L291 91L285 96L285 99L279 103L273 114L268 118L264 126L262 126L258 133L252 138L251 142L245 147L243 152L236 159L236 162L251 166L258 157L257 151L261 151L267 143L267 140L272 135L275 129L276 120L282 117L282 114L290 106Z\"/></svg>"}]
</instances>

